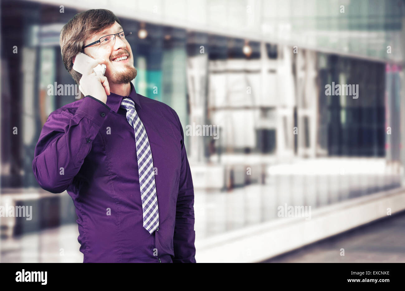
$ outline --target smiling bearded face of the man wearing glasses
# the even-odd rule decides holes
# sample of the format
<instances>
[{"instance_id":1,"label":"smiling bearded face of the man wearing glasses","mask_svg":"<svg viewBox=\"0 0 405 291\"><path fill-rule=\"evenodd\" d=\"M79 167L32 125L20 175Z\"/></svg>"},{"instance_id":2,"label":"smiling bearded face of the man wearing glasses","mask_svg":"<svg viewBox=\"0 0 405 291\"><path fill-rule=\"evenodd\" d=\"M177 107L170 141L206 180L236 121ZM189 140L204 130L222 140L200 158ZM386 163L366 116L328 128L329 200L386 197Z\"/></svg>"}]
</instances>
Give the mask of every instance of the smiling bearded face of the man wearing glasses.
<instances>
[{"instance_id":1,"label":"smiling bearded face of the man wearing glasses","mask_svg":"<svg viewBox=\"0 0 405 291\"><path fill-rule=\"evenodd\" d=\"M97 41L103 36L122 32L124 29L115 21L115 23L103 30L100 33L93 34L85 40L84 45L88 45ZM128 32L125 32L127 34ZM94 59L104 59L107 68L104 76L107 77L108 82L115 84L126 84L135 79L136 68L134 67L134 58L132 56L132 49L126 39L120 39L118 35L115 36L115 44L110 47L102 47L100 43L91 45L84 49L84 53ZM117 61L117 57L126 56L126 60Z\"/></svg>"}]
</instances>

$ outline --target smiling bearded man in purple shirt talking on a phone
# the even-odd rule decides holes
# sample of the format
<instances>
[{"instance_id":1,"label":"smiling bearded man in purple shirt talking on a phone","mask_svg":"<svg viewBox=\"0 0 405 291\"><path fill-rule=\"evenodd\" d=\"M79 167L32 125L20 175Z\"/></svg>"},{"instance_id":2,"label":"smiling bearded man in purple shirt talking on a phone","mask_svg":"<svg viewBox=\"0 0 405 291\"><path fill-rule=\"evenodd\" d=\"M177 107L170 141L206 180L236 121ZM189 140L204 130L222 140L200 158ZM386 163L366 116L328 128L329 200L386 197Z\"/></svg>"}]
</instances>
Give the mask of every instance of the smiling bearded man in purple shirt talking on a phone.
<instances>
[{"instance_id":1,"label":"smiling bearded man in purple shirt talking on a phone","mask_svg":"<svg viewBox=\"0 0 405 291\"><path fill-rule=\"evenodd\" d=\"M49 115L32 169L42 188L72 197L84 263L195 263L183 129L171 107L136 93L126 36L105 9L62 28L62 59L85 97ZM83 75L72 69L81 51L95 59ZM101 63L104 76L93 71Z\"/></svg>"}]
</instances>

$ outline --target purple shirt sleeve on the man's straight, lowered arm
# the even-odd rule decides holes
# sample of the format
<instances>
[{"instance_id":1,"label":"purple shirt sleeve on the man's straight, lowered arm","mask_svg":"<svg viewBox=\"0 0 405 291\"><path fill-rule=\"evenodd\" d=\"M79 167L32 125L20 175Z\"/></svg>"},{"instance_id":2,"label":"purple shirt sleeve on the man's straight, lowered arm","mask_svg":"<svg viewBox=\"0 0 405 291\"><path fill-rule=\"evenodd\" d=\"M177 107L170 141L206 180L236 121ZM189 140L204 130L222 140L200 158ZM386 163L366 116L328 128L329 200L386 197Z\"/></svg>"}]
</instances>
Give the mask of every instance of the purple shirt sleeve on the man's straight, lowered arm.
<instances>
[{"instance_id":1,"label":"purple shirt sleeve on the man's straight, lowered arm","mask_svg":"<svg viewBox=\"0 0 405 291\"><path fill-rule=\"evenodd\" d=\"M181 132L181 171L179 194L176 203L176 223L173 237L173 263L196 263L194 246L196 233L194 231L194 186L190 165L184 145L184 134L181 122L175 113Z\"/></svg>"}]
</instances>

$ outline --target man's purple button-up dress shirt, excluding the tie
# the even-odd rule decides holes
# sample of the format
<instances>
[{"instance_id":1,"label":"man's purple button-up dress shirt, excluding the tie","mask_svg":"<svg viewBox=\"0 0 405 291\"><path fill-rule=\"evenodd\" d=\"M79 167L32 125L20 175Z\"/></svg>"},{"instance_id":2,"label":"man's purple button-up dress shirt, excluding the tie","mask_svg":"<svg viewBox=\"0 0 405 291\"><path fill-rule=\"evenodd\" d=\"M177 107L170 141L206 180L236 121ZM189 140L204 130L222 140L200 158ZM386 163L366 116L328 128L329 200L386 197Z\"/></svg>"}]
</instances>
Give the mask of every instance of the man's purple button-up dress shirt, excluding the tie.
<instances>
[{"instance_id":1,"label":"man's purple button-up dress shirt, excluding the tie","mask_svg":"<svg viewBox=\"0 0 405 291\"><path fill-rule=\"evenodd\" d=\"M156 231L143 228L135 133L120 108L124 96L111 93L106 105L88 95L53 111L35 148L35 178L43 189L72 197L83 263L195 263L194 188L179 117L137 94L132 83L129 97L151 147Z\"/></svg>"}]
</instances>

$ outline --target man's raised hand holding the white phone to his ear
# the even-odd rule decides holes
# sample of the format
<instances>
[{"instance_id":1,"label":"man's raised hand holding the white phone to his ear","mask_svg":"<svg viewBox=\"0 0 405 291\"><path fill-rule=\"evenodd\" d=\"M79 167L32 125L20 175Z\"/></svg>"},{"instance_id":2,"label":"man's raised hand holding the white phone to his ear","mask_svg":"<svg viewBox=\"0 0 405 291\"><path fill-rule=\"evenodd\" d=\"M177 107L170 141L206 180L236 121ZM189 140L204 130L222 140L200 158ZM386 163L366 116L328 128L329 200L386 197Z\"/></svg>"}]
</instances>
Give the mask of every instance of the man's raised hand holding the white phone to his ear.
<instances>
[{"instance_id":1,"label":"man's raised hand holding the white phone to his ear","mask_svg":"<svg viewBox=\"0 0 405 291\"><path fill-rule=\"evenodd\" d=\"M106 104L107 95L110 95L110 85L107 77L96 75L93 71L93 68L104 62L105 60L103 59L97 59L90 63L86 72L81 76L79 90L84 96L91 95Z\"/></svg>"}]
</instances>

